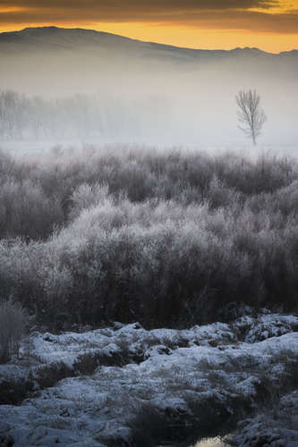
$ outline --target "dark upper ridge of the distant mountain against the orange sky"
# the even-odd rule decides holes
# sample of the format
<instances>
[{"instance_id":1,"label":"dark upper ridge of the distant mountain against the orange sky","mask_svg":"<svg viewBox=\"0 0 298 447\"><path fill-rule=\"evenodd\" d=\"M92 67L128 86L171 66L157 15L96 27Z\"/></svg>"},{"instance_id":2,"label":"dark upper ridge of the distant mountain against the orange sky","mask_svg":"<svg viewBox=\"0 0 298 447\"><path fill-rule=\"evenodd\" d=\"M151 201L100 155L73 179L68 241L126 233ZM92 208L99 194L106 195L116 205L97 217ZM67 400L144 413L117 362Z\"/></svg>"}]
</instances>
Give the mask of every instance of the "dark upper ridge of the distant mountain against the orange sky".
<instances>
[{"instance_id":1,"label":"dark upper ridge of the distant mountain against the orange sky","mask_svg":"<svg viewBox=\"0 0 298 447\"><path fill-rule=\"evenodd\" d=\"M0 54L39 51L81 51L89 48L93 52L113 49L115 53L129 51L138 57L200 62L200 60L234 57L262 57L279 59L281 56L296 56L298 51L283 52L279 55L266 53L258 48L234 48L233 50L201 50L178 46L142 42L95 30L64 29L57 27L26 28L21 31L0 33Z\"/></svg>"}]
</instances>

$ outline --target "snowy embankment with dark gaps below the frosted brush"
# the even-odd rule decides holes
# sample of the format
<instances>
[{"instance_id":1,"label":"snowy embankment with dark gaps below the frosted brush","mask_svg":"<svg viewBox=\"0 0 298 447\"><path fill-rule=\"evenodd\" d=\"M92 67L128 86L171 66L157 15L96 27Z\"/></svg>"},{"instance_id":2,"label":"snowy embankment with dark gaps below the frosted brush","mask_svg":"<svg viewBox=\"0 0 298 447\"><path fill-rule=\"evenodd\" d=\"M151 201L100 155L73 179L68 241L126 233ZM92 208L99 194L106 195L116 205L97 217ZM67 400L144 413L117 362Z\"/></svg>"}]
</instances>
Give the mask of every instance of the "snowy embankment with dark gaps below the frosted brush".
<instances>
[{"instance_id":1,"label":"snowy embankment with dark gaps below the frosted brush","mask_svg":"<svg viewBox=\"0 0 298 447\"><path fill-rule=\"evenodd\" d=\"M31 333L0 367L2 392L31 390L0 406L0 445L189 445L248 416L236 445L297 445L297 330L298 317L263 313L180 331Z\"/></svg>"}]
</instances>

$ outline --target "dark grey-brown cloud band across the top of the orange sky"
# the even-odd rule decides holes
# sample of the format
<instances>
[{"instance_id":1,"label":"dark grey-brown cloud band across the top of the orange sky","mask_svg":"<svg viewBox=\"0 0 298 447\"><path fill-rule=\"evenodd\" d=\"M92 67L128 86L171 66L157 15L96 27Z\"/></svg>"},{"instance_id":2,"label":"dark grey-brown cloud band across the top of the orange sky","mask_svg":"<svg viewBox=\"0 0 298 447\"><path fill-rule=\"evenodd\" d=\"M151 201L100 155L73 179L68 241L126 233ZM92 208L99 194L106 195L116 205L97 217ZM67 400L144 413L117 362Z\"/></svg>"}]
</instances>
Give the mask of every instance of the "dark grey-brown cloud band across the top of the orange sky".
<instances>
[{"instance_id":1,"label":"dark grey-brown cloud band across the top of the orange sky","mask_svg":"<svg viewBox=\"0 0 298 447\"><path fill-rule=\"evenodd\" d=\"M278 0L0 0L0 10L24 8L0 13L0 26L142 21L217 30L298 33L298 10L266 11L280 4Z\"/></svg>"}]
</instances>

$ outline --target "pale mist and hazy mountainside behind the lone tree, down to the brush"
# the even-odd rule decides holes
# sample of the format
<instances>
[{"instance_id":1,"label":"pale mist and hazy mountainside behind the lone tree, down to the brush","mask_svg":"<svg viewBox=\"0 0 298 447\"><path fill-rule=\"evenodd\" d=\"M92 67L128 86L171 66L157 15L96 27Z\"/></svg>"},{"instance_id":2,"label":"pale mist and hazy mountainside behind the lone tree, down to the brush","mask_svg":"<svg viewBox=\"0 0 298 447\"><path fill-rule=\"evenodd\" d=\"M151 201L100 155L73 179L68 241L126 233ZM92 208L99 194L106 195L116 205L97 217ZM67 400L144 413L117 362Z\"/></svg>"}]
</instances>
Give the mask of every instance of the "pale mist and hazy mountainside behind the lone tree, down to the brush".
<instances>
[{"instance_id":1,"label":"pale mist and hazy mountainside behind the lone tree, down to the brush","mask_svg":"<svg viewBox=\"0 0 298 447\"><path fill-rule=\"evenodd\" d=\"M35 101L46 129L25 129L28 139L245 146L240 89L257 89L268 115L260 144L294 146L298 137L297 51L189 50L44 28L3 33L0 56L2 90L51 103Z\"/></svg>"}]
</instances>

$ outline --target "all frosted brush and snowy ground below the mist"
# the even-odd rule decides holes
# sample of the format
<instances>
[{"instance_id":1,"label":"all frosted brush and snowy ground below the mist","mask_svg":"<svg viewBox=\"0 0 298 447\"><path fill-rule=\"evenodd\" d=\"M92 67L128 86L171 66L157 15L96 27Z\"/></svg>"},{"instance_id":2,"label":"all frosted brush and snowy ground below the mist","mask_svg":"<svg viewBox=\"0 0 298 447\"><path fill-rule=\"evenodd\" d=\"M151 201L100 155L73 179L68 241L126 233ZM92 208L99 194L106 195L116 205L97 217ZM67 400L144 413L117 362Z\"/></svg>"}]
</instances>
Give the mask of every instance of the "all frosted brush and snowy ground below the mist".
<instances>
[{"instance_id":1,"label":"all frosted brush and snowy ground below the mist","mask_svg":"<svg viewBox=\"0 0 298 447\"><path fill-rule=\"evenodd\" d=\"M0 333L0 445L297 445L294 157L54 148L0 182L28 328Z\"/></svg>"}]
</instances>

